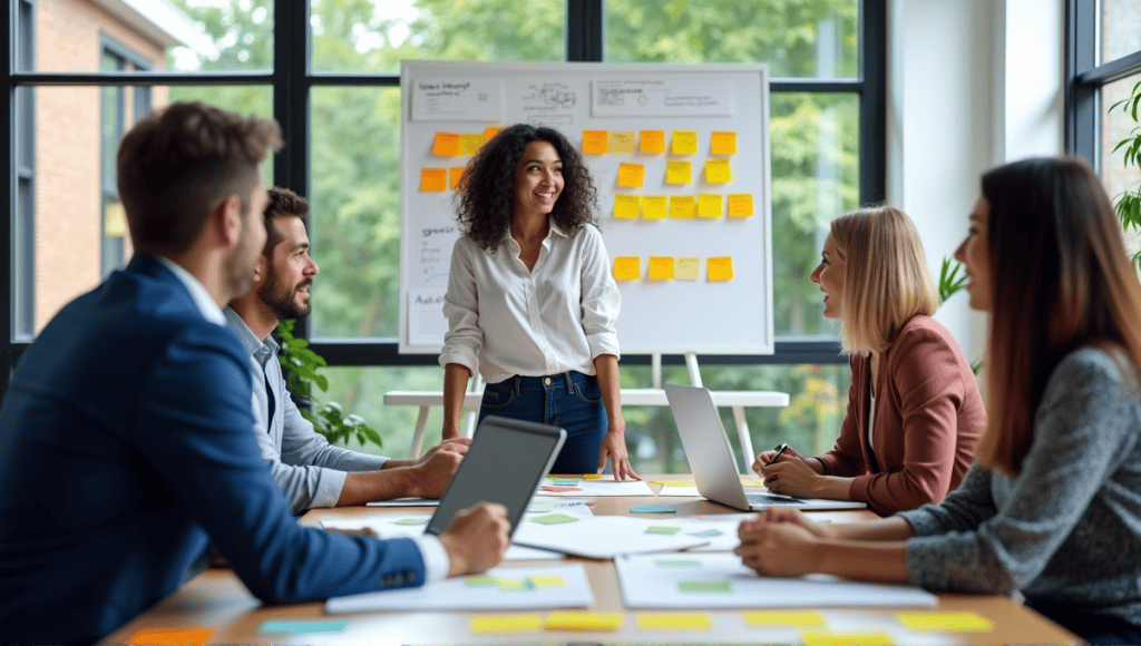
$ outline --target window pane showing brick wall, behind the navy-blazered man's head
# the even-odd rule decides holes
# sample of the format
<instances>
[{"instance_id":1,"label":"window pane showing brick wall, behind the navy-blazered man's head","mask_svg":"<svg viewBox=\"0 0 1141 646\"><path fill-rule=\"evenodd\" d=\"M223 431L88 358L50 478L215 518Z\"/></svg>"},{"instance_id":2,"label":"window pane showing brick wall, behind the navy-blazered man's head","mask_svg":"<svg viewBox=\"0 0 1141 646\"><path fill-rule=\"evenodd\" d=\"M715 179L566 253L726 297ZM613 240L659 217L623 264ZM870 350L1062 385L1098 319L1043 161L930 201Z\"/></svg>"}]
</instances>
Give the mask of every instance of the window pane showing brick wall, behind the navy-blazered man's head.
<instances>
[{"instance_id":1,"label":"window pane showing brick wall, behind the navy-blazered man's head","mask_svg":"<svg viewBox=\"0 0 1141 646\"><path fill-rule=\"evenodd\" d=\"M131 106L136 105L136 91L35 88L34 131L18 137L34 143L32 172L19 183L21 204L27 197L29 208L22 209L16 236L21 264L31 269L15 281L16 301L22 304L22 316L26 316L23 320L31 323L31 329L21 325L25 338L43 328L67 301L98 284L104 270L130 258L118 197L104 191L100 160L106 153L100 113L104 95L121 95L122 105L115 110L122 111L124 127L129 128L135 119ZM259 116L270 112L270 90L266 87L154 87L149 96L155 107L169 100L199 98ZM118 140L108 143L118 147ZM107 156L114 159L113 154ZM268 170L266 164L267 176Z\"/></svg>"}]
</instances>

